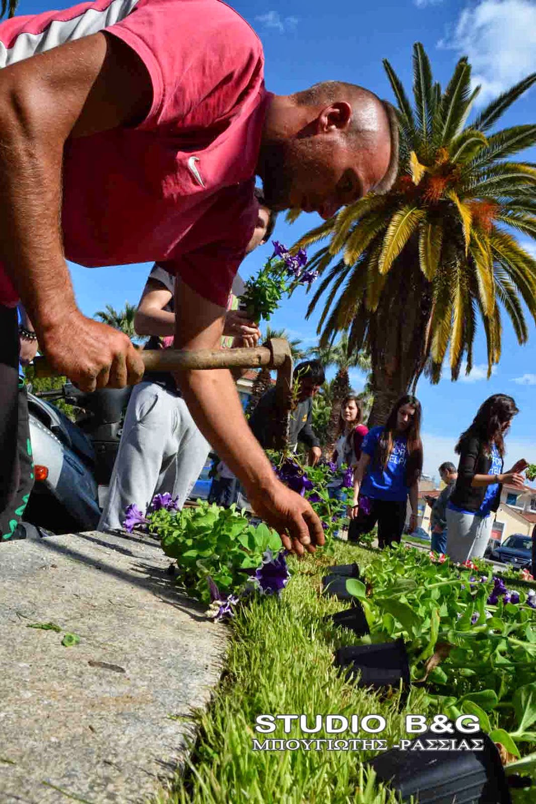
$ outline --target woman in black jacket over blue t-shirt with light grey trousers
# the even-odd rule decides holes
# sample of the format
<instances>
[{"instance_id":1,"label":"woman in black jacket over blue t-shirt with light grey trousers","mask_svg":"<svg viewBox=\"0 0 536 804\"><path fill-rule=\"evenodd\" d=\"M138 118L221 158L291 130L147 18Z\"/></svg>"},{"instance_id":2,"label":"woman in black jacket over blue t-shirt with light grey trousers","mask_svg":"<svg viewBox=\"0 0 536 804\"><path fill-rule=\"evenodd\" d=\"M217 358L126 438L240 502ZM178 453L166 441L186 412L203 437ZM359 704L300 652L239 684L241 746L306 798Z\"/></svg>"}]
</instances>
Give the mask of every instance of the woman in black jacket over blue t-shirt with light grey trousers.
<instances>
[{"instance_id":1,"label":"woman in black jacket over blue t-shirt with light grey trousers","mask_svg":"<svg viewBox=\"0 0 536 804\"><path fill-rule=\"evenodd\" d=\"M482 558L501 502L503 483L522 488L524 459L503 473L505 435L518 413L511 396L494 394L480 405L472 425L460 436L458 479L447 505L447 556L453 561Z\"/></svg>"}]
</instances>

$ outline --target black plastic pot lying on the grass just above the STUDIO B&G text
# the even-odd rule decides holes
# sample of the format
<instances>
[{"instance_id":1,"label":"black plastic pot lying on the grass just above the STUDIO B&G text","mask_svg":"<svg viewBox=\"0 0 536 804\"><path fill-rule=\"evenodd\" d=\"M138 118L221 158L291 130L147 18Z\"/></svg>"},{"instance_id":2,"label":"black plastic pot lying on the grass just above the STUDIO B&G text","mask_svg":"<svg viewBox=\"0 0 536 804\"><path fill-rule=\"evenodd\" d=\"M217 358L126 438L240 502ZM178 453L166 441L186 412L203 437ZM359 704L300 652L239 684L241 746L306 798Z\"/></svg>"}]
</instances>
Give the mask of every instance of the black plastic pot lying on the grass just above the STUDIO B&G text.
<instances>
[{"instance_id":1,"label":"black plastic pot lying on the grass just above the STUDIO B&G text","mask_svg":"<svg viewBox=\"0 0 536 804\"><path fill-rule=\"evenodd\" d=\"M403 639L379 645L351 645L338 648L335 663L346 670L348 681L357 680L358 687L407 687L410 666Z\"/></svg>"}]
</instances>

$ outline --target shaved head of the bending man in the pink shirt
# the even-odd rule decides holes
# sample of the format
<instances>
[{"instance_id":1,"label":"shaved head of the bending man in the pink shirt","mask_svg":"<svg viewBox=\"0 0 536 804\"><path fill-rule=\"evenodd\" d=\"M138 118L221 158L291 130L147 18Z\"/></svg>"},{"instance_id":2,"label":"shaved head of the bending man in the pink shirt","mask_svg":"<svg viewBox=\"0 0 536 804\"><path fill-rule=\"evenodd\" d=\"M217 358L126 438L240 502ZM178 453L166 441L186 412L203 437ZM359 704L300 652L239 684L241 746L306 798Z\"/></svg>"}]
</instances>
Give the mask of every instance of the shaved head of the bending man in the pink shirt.
<instances>
[{"instance_id":1,"label":"shaved head of the bending man in the pink shirt","mask_svg":"<svg viewBox=\"0 0 536 804\"><path fill-rule=\"evenodd\" d=\"M394 107L344 81L274 96L259 167L275 208L326 218L369 191L386 193L398 172Z\"/></svg>"}]
</instances>

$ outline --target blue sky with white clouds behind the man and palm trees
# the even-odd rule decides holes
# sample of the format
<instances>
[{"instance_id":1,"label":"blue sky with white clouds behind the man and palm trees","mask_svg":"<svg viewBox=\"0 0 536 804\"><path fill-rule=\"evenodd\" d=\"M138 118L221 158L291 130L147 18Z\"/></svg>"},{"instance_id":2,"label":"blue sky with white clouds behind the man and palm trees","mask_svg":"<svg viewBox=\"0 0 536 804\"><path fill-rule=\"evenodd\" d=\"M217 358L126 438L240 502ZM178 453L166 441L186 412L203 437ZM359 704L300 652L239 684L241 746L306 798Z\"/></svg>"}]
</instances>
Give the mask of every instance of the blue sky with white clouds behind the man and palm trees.
<instances>
[{"instance_id":1,"label":"blue sky with white clouds behind the man and palm trees","mask_svg":"<svg viewBox=\"0 0 536 804\"><path fill-rule=\"evenodd\" d=\"M393 100L381 59L387 58L410 90L411 47L420 41L431 58L435 77L444 85L460 55L468 55L473 74L482 84L484 100L536 71L536 4L529 0L398 0L373 3L355 0L251 0L231 3L258 31L266 54L266 86L278 94L289 94L320 80L339 79L362 84L380 96ZM70 5L56 3L56 7ZM19 14L46 10L52 0L21 0ZM536 90L529 92L502 118L501 127L534 122ZM536 162L536 154L526 158ZM282 218L282 216L280 216ZM320 222L317 215L301 215L289 226L281 219L276 236L291 244L307 229ZM536 248L534 253L536 254ZM248 277L270 256L265 246L242 265ZM93 315L106 304L122 307L136 303L149 265L106 269L72 266L76 297L85 314ZM285 301L270 322L286 327L309 346L315 343L315 318L305 320L307 301L299 291ZM521 413L509 435L507 462L519 457L536 462L536 332L530 324L530 342L519 347L509 322L503 317L501 363L485 379L485 349L482 334L477 338L472 376L452 384L443 380L431 386L426 380L418 387L423 403L425 470L437 474L439 463L454 458L454 444L472 420L479 404L493 393L509 393ZM353 376L355 388L363 378ZM509 468L509 467L506 467Z\"/></svg>"}]
</instances>

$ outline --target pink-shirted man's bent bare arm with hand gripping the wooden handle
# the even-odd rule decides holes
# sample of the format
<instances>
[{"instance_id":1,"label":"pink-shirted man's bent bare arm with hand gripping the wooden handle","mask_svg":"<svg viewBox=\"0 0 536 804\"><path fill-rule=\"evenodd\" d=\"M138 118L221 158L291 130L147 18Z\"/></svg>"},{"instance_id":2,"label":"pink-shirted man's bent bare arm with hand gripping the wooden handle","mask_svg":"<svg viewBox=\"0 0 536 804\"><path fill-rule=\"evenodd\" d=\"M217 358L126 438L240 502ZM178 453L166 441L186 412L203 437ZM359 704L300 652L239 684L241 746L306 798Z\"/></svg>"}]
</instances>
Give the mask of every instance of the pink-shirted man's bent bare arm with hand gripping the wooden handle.
<instances>
[{"instance_id":1,"label":"pink-shirted man's bent bare arm with hand gripping the wooden handle","mask_svg":"<svg viewBox=\"0 0 536 804\"><path fill-rule=\"evenodd\" d=\"M141 120L151 97L138 56L104 34L0 72L0 257L49 359L89 390L136 381L142 361L77 310L60 225L64 145Z\"/></svg>"}]
</instances>

